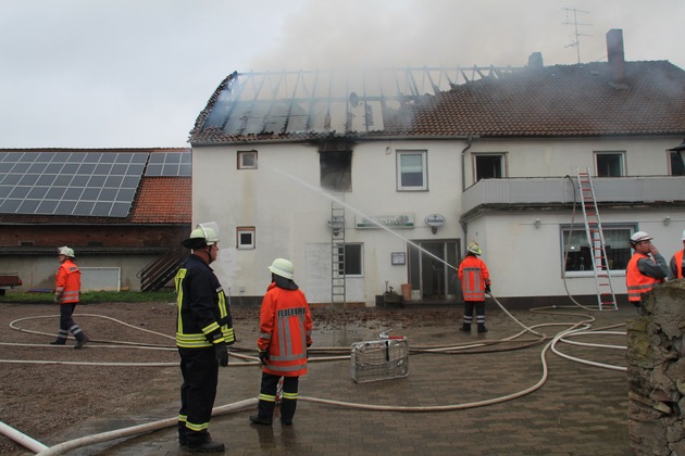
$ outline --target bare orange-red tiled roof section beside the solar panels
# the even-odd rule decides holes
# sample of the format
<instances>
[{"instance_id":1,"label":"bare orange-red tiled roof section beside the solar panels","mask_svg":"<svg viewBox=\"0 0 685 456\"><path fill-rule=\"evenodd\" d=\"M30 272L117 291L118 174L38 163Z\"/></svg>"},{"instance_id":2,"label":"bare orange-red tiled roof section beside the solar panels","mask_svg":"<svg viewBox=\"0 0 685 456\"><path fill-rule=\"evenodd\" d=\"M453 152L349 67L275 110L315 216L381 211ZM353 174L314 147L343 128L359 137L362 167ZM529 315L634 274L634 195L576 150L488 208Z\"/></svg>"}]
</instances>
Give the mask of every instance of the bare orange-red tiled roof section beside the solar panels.
<instances>
[{"instance_id":1,"label":"bare orange-red tiled roof section beside the solar panels","mask_svg":"<svg viewBox=\"0 0 685 456\"><path fill-rule=\"evenodd\" d=\"M132 224L189 224L192 219L189 177L144 177Z\"/></svg>"}]
</instances>

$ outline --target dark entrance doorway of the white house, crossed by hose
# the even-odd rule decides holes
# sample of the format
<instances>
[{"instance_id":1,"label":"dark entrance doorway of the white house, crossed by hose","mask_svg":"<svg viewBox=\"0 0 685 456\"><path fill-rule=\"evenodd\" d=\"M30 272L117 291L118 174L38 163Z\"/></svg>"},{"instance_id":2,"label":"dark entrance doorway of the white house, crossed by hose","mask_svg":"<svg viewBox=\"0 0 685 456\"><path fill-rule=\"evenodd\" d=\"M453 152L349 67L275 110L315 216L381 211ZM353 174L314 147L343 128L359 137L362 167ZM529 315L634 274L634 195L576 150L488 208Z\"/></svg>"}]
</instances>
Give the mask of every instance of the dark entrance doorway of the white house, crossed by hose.
<instances>
[{"instance_id":1,"label":"dark entrance doorway of the white house, crossed by hose","mask_svg":"<svg viewBox=\"0 0 685 456\"><path fill-rule=\"evenodd\" d=\"M412 300L425 302L457 300L459 281L456 277L456 268L459 267L457 264L459 241L425 240L412 242L421 248L408 245L409 282L413 290Z\"/></svg>"}]
</instances>

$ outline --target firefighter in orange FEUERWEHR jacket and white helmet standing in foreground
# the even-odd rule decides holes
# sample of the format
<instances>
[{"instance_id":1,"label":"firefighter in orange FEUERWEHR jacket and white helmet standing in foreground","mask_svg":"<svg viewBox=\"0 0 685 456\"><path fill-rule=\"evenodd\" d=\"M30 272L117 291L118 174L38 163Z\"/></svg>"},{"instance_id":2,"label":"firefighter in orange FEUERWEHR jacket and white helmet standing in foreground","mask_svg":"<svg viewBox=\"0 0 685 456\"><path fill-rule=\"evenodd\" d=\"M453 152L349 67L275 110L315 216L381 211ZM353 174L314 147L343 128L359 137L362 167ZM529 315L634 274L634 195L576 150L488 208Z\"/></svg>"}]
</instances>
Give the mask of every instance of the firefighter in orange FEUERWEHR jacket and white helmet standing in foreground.
<instances>
[{"instance_id":1,"label":"firefighter in orange FEUERWEHR jacket and white helmet standing in foreground","mask_svg":"<svg viewBox=\"0 0 685 456\"><path fill-rule=\"evenodd\" d=\"M262 301L257 345L262 362L262 384L257 415L250 421L271 426L276 390L283 378L281 422L292 425L299 377L307 373L307 349L312 344L312 316L304 293L292 281L292 263L274 259L271 284Z\"/></svg>"}]
</instances>

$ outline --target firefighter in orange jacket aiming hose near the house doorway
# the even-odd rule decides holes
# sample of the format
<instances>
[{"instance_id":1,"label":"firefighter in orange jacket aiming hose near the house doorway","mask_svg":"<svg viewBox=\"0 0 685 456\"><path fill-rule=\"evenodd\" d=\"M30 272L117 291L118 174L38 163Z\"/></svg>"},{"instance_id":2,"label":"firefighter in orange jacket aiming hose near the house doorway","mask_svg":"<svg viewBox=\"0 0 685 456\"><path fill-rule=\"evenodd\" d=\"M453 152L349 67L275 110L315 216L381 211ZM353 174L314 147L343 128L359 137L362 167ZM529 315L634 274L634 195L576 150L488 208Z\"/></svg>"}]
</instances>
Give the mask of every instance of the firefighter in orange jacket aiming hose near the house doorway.
<instances>
[{"instance_id":1,"label":"firefighter in orange jacket aiming hose near the house doorway","mask_svg":"<svg viewBox=\"0 0 685 456\"><path fill-rule=\"evenodd\" d=\"M466 248L466 256L459 265L459 280L464 296L464 319L459 328L471 332L473 309L476 312L478 332L487 332L485 328L485 293L490 292L490 273L485 262L478 256L483 253L477 242L471 242Z\"/></svg>"}]
</instances>

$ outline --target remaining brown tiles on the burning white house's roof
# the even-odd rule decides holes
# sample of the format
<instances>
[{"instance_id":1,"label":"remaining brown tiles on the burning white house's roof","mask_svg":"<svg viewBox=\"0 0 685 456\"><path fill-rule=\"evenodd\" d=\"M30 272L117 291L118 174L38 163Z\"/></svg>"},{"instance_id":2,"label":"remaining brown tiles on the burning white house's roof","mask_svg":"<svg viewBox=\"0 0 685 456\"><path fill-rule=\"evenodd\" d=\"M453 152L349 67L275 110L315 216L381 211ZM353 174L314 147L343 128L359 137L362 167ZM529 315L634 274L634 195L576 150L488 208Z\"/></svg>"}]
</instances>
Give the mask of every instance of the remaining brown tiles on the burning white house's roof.
<instances>
[{"instance_id":1,"label":"remaining brown tiles on the burning white house's roof","mask_svg":"<svg viewBox=\"0 0 685 456\"><path fill-rule=\"evenodd\" d=\"M399 107L386 107L382 130L344 135L300 130L229 136L216 126L202 128L217 99L215 92L198 117L190 142L304 141L327 136L373 139L685 134L685 72L667 61L625 62L624 68L624 84L612 83L607 62L528 67L502 77L484 77L437 94L408 98Z\"/></svg>"}]
</instances>

